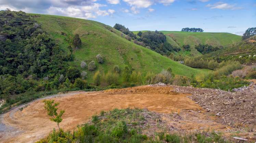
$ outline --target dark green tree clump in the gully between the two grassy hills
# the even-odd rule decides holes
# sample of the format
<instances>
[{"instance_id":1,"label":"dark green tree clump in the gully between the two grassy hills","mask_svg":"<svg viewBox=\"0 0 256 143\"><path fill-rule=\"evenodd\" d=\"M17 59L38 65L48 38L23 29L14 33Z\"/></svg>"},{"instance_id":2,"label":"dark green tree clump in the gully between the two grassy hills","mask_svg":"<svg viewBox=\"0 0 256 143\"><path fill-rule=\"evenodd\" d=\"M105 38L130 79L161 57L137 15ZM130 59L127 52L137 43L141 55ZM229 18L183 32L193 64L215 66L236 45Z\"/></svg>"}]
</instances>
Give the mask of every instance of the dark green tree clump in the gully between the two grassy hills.
<instances>
[{"instance_id":1,"label":"dark green tree clump in the gully between the two grassy hills","mask_svg":"<svg viewBox=\"0 0 256 143\"><path fill-rule=\"evenodd\" d=\"M145 46L149 46L151 50L162 55L169 55L172 51L178 52L180 48L173 47L166 42L166 36L162 32L147 31L143 32L138 41L143 42Z\"/></svg>"}]
</instances>

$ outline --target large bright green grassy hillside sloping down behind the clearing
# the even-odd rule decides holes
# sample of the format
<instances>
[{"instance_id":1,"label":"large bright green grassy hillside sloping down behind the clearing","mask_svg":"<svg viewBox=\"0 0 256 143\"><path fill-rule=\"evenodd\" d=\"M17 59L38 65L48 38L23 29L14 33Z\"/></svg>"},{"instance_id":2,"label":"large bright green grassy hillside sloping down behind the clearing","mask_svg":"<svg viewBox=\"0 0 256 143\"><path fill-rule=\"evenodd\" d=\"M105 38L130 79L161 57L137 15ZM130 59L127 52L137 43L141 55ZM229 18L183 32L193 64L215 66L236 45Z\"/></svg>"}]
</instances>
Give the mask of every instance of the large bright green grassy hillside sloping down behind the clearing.
<instances>
[{"instance_id":1,"label":"large bright green grassy hillside sloping down behind the clearing","mask_svg":"<svg viewBox=\"0 0 256 143\"><path fill-rule=\"evenodd\" d=\"M63 16L33 15L35 20L41 24L42 29L53 35L64 50L68 50L67 41L76 33L79 34L82 46L74 52L75 60L71 64L80 70L82 70L80 68L81 61L85 61L87 64L92 60L96 61L95 57L100 53L105 62L104 64L97 63L95 71L100 70L105 73L108 70L113 70L115 65L118 65L121 70L128 65L141 72L142 75L149 71L159 73L168 67L172 67L175 74L184 76L205 72L179 64L150 49L136 45L122 37L120 31L97 21ZM95 71L86 70L89 82L92 81Z\"/></svg>"}]
</instances>

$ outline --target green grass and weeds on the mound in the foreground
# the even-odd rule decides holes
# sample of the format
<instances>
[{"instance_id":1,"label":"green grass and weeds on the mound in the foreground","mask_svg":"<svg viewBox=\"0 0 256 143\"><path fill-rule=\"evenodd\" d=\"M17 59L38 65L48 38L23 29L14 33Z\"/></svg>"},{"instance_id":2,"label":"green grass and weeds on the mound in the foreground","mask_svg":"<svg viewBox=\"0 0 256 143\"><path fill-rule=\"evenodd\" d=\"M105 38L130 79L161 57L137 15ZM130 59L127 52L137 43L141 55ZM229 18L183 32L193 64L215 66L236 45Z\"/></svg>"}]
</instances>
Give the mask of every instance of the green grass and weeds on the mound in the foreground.
<instances>
[{"instance_id":1,"label":"green grass and weeds on the mound in the foreground","mask_svg":"<svg viewBox=\"0 0 256 143\"><path fill-rule=\"evenodd\" d=\"M114 109L100 116L93 115L91 122L78 126L76 130L65 132L53 130L45 139L38 143L47 142L85 142L85 143L226 143L221 133L191 133L182 135L180 133L169 133L167 131L159 132L153 126L142 128L147 121L144 116L156 115L154 112L142 109ZM156 115L157 116L157 115ZM154 121L155 122L155 121ZM152 127L152 128L151 128ZM143 131L146 130L146 131ZM155 134L148 136L147 133L152 130Z\"/></svg>"}]
</instances>

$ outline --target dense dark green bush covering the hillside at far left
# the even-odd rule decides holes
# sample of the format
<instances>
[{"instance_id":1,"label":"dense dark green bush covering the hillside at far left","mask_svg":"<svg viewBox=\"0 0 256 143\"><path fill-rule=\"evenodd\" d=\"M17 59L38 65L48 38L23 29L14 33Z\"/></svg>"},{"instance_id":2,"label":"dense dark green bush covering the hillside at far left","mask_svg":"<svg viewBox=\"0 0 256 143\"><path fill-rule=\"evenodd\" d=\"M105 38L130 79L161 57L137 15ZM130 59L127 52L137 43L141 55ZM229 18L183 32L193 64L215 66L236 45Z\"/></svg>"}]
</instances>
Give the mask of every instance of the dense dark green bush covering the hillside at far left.
<instances>
[{"instance_id":1,"label":"dense dark green bush covering the hillside at far left","mask_svg":"<svg viewBox=\"0 0 256 143\"><path fill-rule=\"evenodd\" d=\"M0 75L59 74L70 59L25 12L0 11Z\"/></svg>"}]
</instances>

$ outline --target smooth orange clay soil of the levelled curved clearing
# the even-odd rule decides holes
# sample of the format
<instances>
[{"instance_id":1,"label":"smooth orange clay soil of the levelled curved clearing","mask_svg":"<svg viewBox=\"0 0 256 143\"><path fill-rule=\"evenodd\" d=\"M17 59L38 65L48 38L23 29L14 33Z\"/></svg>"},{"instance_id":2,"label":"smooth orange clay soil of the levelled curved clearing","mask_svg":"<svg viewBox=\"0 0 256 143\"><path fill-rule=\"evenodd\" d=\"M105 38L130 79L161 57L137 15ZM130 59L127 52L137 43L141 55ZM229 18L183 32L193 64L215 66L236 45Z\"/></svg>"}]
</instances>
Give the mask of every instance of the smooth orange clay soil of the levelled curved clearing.
<instances>
[{"instance_id":1,"label":"smooth orange clay soil of the levelled curved clearing","mask_svg":"<svg viewBox=\"0 0 256 143\"><path fill-rule=\"evenodd\" d=\"M115 108L147 108L149 111L165 113L166 115L174 112L196 112L202 108L195 104L193 100L187 98L189 94L180 94L171 91L168 86L138 86L134 88L107 90L101 92L84 92L75 95L53 97L55 102L59 102L59 110L65 110L63 121L60 127L64 130L73 130L77 125L86 123L94 114L100 111L109 111ZM29 106L22 111L14 110L2 115L2 123L12 127L14 130L0 132L1 142L34 142L47 137L57 125L49 120L44 109L42 99L29 103ZM200 117L197 117L200 116ZM187 120L189 120L188 117ZM200 123L195 125L197 118ZM212 118L204 113L193 115L193 122L184 125L191 130L205 130L209 125L215 126L219 130L225 126L214 122ZM164 119L172 124L169 119ZM208 124L209 122L210 124ZM217 126L218 125L218 126ZM183 128L183 127L180 127Z\"/></svg>"}]
</instances>

